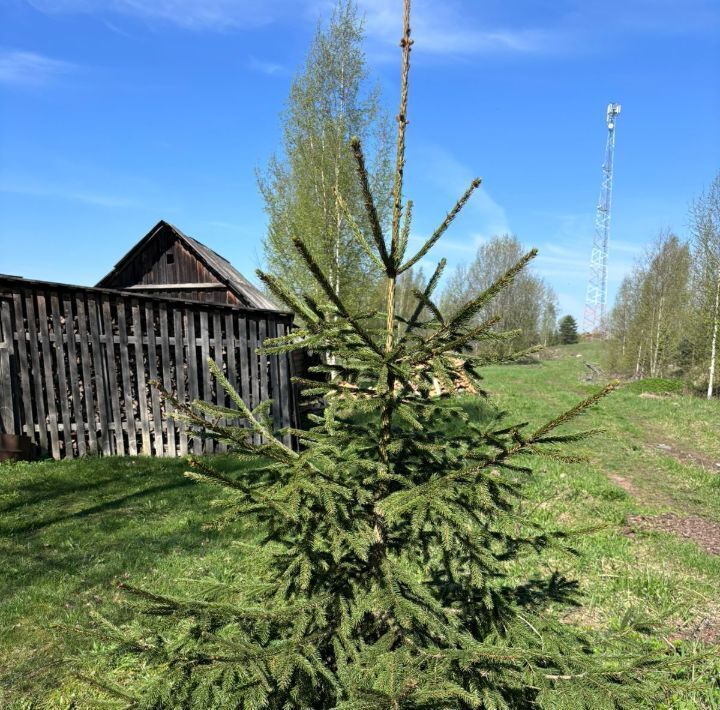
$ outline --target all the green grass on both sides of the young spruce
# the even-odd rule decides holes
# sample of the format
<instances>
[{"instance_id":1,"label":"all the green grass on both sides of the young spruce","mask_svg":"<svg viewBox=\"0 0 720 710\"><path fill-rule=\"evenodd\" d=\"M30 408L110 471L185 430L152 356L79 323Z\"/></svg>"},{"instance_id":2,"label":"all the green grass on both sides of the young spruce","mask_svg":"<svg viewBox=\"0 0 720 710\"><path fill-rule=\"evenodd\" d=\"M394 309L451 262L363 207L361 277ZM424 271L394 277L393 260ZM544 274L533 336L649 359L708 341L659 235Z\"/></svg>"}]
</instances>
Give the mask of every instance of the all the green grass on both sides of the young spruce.
<instances>
[{"instance_id":1,"label":"all the green grass on both sides of the young spruce","mask_svg":"<svg viewBox=\"0 0 720 710\"><path fill-rule=\"evenodd\" d=\"M487 368L487 388L497 406L540 423L604 384L603 375L586 381L585 363L602 366L599 352L567 346L535 364ZM569 620L640 630L663 644L682 640L688 649L713 646L720 402L663 389L628 386L575 424L605 430L579 447L589 462L536 461L522 514L596 529L577 537L579 556L543 562L581 582L585 605ZM142 458L0 467L0 707L85 707L71 705L72 674L86 670L96 641L74 629L94 612L122 616L114 579L166 590L237 563L242 547L231 534L205 527L217 490L184 479L185 468ZM246 541L251 530L248 521ZM672 707L720 707L717 668L691 667L696 689Z\"/></svg>"}]
</instances>

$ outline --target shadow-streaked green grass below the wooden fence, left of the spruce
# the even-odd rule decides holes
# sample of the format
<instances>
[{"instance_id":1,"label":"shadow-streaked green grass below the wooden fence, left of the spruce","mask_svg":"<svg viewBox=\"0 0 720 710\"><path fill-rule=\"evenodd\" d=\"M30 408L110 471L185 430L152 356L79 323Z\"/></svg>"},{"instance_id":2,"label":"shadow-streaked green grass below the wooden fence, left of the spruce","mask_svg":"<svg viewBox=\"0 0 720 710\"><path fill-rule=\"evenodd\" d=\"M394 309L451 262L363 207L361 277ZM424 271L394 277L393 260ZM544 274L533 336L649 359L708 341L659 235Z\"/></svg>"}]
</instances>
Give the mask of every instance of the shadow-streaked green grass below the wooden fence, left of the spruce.
<instances>
[{"instance_id":1,"label":"shadow-streaked green grass below the wooden fence, left of the spruce","mask_svg":"<svg viewBox=\"0 0 720 710\"><path fill-rule=\"evenodd\" d=\"M217 490L180 460L89 458L0 466L0 707L46 698L91 641L69 629L117 617L115 579L154 589L236 554L204 529ZM49 696L46 707L62 707ZM54 699L53 699L54 698Z\"/></svg>"}]
</instances>

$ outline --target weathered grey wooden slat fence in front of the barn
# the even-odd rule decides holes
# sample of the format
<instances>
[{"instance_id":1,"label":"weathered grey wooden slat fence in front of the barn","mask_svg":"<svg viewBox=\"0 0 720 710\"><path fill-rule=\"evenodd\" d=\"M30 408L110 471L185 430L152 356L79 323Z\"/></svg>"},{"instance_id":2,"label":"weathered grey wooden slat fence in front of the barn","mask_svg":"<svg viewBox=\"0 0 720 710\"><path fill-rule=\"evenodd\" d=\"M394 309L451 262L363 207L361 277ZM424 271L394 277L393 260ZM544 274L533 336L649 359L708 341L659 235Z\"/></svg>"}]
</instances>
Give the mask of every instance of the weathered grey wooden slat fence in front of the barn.
<instances>
[{"instance_id":1,"label":"weathered grey wooden slat fence in front of the barn","mask_svg":"<svg viewBox=\"0 0 720 710\"><path fill-rule=\"evenodd\" d=\"M291 323L278 311L0 277L0 433L26 434L56 459L222 451L168 417L148 384L232 406L208 358L251 407L273 401L276 428L294 426L292 358L257 353Z\"/></svg>"}]
</instances>

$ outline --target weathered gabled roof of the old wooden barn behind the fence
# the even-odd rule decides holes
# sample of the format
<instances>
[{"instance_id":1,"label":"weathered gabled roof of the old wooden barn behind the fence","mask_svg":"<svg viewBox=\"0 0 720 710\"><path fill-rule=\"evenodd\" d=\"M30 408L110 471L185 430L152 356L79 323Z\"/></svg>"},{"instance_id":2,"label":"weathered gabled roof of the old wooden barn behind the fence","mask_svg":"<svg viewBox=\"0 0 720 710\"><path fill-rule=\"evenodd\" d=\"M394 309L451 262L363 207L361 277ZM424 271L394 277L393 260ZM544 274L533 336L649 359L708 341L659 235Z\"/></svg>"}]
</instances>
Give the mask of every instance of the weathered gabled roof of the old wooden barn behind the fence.
<instances>
[{"instance_id":1,"label":"weathered gabled roof of the old wooden barn behind the fence","mask_svg":"<svg viewBox=\"0 0 720 710\"><path fill-rule=\"evenodd\" d=\"M105 288L112 284L112 277L117 274L125 265L132 261L147 244L160 232L171 230L173 235L182 242L189 252L194 254L213 273L220 283L234 293L242 303L250 308L262 308L265 310L280 310L276 303L253 286L227 259L217 252L205 246L201 242L188 237L177 227L161 219L125 256L115 264L113 270L104 276L96 286Z\"/></svg>"}]
</instances>

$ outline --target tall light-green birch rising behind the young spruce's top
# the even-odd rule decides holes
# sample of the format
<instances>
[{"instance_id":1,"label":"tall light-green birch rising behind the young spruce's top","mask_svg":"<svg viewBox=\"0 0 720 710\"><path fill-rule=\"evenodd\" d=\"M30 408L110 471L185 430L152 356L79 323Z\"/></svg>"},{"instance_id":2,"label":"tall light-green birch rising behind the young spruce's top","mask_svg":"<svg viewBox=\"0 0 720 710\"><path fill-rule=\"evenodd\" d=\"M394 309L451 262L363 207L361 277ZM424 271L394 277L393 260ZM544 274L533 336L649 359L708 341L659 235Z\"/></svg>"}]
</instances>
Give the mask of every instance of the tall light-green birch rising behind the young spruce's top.
<instances>
[{"instance_id":1,"label":"tall light-green birch rising behind the young spruce's top","mask_svg":"<svg viewBox=\"0 0 720 710\"><path fill-rule=\"evenodd\" d=\"M266 267L295 293L325 297L292 248L302 237L336 296L364 307L377 293L379 271L354 231L370 239L370 225L347 150L351 137L368 146L369 179L378 217L390 209L390 131L377 87L369 84L362 49L363 22L354 0L339 0L318 27L282 114L279 155L258 183L268 215Z\"/></svg>"}]
</instances>

